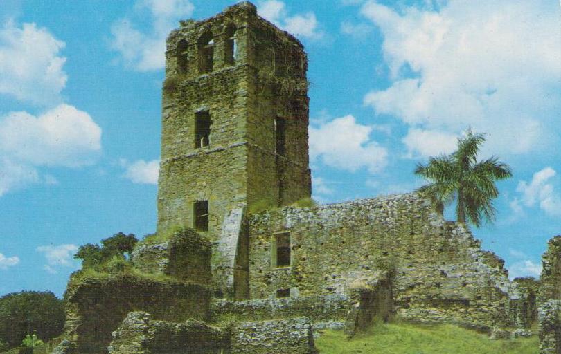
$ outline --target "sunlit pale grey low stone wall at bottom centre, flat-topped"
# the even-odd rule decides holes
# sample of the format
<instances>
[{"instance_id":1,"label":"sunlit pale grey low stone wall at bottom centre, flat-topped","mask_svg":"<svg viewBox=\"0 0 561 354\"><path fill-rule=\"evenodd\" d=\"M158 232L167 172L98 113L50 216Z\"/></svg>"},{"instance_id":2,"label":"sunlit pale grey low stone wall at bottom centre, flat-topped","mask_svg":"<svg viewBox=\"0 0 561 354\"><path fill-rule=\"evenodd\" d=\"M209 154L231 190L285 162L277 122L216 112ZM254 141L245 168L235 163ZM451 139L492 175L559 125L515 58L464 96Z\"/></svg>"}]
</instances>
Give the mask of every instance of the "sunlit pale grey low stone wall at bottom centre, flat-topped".
<instances>
[{"instance_id":1,"label":"sunlit pale grey low stone wall at bottom centre, flat-topped","mask_svg":"<svg viewBox=\"0 0 561 354\"><path fill-rule=\"evenodd\" d=\"M231 336L232 354L314 354L312 324L303 317L244 322Z\"/></svg>"}]
</instances>

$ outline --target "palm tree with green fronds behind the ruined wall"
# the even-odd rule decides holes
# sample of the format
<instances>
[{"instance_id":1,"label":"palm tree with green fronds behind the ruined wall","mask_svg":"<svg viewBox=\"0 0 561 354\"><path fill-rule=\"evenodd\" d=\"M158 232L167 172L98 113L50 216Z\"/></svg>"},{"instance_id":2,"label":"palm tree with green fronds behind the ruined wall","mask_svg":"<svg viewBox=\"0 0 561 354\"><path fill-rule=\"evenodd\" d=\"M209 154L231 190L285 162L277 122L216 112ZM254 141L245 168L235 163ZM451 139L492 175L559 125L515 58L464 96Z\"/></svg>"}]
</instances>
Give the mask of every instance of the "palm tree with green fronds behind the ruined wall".
<instances>
[{"instance_id":1,"label":"palm tree with green fronds behind the ruined wall","mask_svg":"<svg viewBox=\"0 0 561 354\"><path fill-rule=\"evenodd\" d=\"M444 206L456 199L458 222L468 221L476 227L483 220L495 220L493 199L499 196L495 180L513 176L510 167L495 156L477 161L483 142L485 134L467 129L458 138L458 149L454 153L430 158L427 165L418 164L415 169L415 174L431 182L417 192L429 198L441 215Z\"/></svg>"}]
</instances>

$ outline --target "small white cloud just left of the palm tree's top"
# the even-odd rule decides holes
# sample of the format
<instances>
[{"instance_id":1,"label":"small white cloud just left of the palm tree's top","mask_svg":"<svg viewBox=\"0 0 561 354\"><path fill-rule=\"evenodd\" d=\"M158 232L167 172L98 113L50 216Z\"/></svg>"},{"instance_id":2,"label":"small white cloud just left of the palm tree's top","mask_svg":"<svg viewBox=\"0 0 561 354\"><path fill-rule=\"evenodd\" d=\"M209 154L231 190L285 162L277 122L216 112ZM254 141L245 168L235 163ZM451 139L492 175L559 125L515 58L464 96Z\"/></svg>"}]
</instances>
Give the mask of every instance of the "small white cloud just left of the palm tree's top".
<instances>
[{"instance_id":1,"label":"small white cloud just left of the palm tree's top","mask_svg":"<svg viewBox=\"0 0 561 354\"><path fill-rule=\"evenodd\" d=\"M410 157L452 153L456 149L456 141L457 137L454 134L424 129L409 129L407 136L402 140Z\"/></svg>"}]
</instances>

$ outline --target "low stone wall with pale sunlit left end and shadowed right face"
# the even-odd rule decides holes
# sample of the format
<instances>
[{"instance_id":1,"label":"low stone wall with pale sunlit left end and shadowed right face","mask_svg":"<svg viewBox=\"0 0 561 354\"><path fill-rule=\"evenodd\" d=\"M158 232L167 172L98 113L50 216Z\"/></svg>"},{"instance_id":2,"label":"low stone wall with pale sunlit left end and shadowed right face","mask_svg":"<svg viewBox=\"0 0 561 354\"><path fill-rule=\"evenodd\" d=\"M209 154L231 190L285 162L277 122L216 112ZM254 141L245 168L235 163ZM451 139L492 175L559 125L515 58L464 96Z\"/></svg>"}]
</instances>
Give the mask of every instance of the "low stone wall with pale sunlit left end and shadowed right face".
<instances>
[{"instance_id":1,"label":"low stone wall with pale sunlit left end and shadowed right face","mask_svg":"<svg viewBox=\"0 0 561 354\"><path fill-rule=\"evenodd\" d=\"M229 333L204 322L157 321L144 312L127 315L114 331L109 354L227 353ZM222 352L224 351L224 352Z\"/></svg>"}]
</instances>

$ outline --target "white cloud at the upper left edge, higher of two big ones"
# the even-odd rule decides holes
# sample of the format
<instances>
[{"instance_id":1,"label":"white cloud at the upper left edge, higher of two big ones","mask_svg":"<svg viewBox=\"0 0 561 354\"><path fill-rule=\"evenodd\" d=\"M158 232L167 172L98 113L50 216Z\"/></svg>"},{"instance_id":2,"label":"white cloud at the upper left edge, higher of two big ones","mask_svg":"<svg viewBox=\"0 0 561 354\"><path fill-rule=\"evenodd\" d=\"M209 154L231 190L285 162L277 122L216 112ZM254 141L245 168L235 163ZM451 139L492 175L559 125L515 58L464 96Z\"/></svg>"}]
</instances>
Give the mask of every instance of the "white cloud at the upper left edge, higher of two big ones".
<instances>
[{"instance_id":1,"label":"white cloud at the upper left edge, higher of two big ones","mask_svg":"<svg viewBox=\"0 0 561 354\"><path fill-rule=\"evenodd\" d=\"M60 102L67 76L64 41L35 24L19 27L7 21L0 28L0 93L34 104Z\"/></svg>"}]
</instances>

